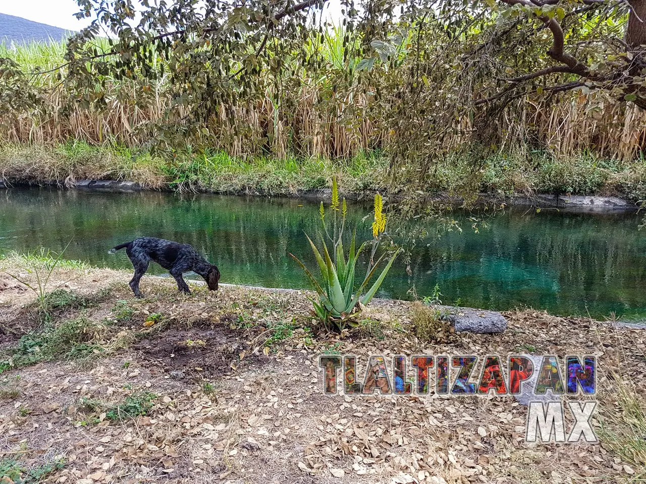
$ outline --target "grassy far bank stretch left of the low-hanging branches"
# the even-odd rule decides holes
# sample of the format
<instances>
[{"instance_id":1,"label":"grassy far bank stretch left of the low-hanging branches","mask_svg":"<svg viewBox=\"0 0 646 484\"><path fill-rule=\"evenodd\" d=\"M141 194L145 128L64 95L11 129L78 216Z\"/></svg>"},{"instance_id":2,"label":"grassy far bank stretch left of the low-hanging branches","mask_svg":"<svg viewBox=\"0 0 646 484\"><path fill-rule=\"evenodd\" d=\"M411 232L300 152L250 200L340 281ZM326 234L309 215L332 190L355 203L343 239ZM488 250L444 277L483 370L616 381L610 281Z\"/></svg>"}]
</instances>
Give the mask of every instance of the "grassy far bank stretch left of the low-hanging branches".
<instances>
[{"instance_id":1,"label":"grassy far bank stretch left of the low-hanging branches","mask_svg":"<svg viewBox=\"0 0 646 484\"><path fill-rule=\"evenodd\" d=\"M162 159L121 145L91 146L74 141L56 146L0 145L0 169L9 183L59 185L79 179L136 181L146 188L214 193L294 194L329 187L339 176L348 191L383 188L386 160L360 152L351 159L318 157L233 157L224 152L187 150Z\"/></svg>"}]
</instances>

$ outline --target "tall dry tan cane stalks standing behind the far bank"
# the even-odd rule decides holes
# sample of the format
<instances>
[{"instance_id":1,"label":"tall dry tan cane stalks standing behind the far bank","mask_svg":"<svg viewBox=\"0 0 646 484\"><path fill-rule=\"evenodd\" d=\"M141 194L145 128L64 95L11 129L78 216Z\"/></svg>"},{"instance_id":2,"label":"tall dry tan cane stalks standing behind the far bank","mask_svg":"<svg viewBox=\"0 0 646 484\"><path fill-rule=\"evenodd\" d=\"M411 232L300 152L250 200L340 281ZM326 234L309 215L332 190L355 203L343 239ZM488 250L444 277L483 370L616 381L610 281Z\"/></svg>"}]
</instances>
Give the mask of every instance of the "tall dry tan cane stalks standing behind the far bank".
<instances>
[{"instance_id":1,"label":"tall dry tan cane stalks standing behind the far bank","mask_svg":"<svg viewBox=\"0 0 646 484\"><path fill-rule=\"evenodd\" d=\"M339 43L341 38L342 32L337 32L328 43ZM328 50L327 45L316 48ZM60 65L64 52L60 43L17 46L14 50L0 45L1 55L16 59L29 71L36 66L47 70ZM230 156L258 155L262 150L278 159L291 153L334 159L353 157L382 146L390 131L389 120L370 116L370 103L375 99L360 94L356 86L349 92L343 92L342 84L333 90L333 82L326 80L326 75L335 79L338 75L335 69L344 66L336 65L333 52L324 55L327 63L320 72L300 72L288 79L289 89L276 92L271 77L262 78L257 82L266 90L258 102L220 106L218 123L212 127L217 140L214 148ZM145 106L130 102L136 99L136 94L129 81L106 81L107 108L98 112L70 103L54 73L39 77L39 82L50 88L43 112L17 117L1 139L37 145L67 143L70 139L91 145L106 142L130 148L143 145L151 137L147 123L160 120L171 102L166 77L152 85L154 103ZM344 116L346 112L351 116ZM245 132L231 136L236 132L236 123L245 126ZM461 121L461 130L452 134L454 139L447 139L446 145L459 146L471 128L468 119ZM646 113L604 92L569 92L549 99L529 96L510 105L498 130L499 149L503 153L530 156L538 147L559 158L572 159L594 152L606 159L634 161L645 138Z\"/></svg>"}]
</instances>

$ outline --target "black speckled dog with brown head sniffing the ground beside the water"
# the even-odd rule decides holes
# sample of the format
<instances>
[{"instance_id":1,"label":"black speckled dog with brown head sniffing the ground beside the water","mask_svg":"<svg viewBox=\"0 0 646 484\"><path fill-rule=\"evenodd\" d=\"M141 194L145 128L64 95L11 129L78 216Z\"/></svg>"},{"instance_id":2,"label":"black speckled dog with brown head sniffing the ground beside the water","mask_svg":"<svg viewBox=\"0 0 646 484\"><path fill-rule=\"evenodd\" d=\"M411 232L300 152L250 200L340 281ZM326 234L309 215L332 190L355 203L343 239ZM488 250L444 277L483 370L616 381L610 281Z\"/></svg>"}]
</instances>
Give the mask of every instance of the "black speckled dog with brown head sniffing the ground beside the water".
<instances>
[{"instance_id":1,"label":"black speckled dog with brown head sniffing the ground beside the water","mask_svg":"<svg viewBox=\"0 0 646 484\"><path fill-rule=\"evenodd\" d=\"M189 244L180 244L153 237L141 237L140 239L134 239L132 242L126 242L111 248L108 254L114 254L124 247L130 262L134 266L134 276L130 281L130 288L136 297L141 297L139 281L148 269L150 261L154 261L161 267L168 269L171 276L177 281L178 289L183 292L191 292L182 278L182 273L189 270L202 276L210 290L218 290L220 271L216 266L200 256L193 246Z\"/></svg>"}]
</instances>

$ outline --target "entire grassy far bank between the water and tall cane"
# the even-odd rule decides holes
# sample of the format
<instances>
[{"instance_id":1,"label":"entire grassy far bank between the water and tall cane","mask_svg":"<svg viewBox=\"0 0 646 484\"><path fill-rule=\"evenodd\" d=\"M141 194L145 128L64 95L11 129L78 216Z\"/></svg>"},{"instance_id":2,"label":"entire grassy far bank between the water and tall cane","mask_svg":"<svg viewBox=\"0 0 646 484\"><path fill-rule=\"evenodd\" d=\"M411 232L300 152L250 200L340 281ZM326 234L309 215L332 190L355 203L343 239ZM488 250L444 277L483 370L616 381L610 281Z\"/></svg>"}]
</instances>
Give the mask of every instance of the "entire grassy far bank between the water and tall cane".
<instances>
[{"instance_id":1,"label":"entire grassy far bank between the water and tall cane","mask_svg":"<svg viewBox=\"0 0 646 484\"><path fill-rule=\"evenodd\" d=\"M0 172L9 184L70 185L79 179L131 180L145 188L218 193L296 194L326 188L333 175L345 192L388 190L388 161L378 152L350 159L233 157L224 152L153 157L124 146L80 141L46 145L0 145ZM499 154L474 174L464 159L439 163L428 193L472 190L509 194L558 193L646 199L646 160L624 163L592 154L555 158L545 152Z\"/></svg>"}]
</instances>

